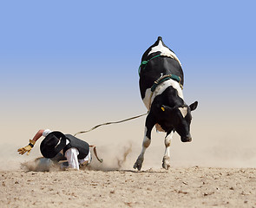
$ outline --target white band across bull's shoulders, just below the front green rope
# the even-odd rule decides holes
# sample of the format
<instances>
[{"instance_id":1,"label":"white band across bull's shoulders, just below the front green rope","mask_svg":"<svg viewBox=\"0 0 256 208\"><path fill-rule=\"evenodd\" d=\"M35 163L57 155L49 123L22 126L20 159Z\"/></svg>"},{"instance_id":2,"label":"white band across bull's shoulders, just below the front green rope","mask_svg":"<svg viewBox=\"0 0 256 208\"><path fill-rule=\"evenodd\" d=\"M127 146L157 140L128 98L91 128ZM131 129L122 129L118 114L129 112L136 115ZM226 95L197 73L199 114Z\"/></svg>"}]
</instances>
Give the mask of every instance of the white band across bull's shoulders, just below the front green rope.
<instances>
[{"instance_id":1,"label":"white band across bull's shoulders, just below the front green rope","mask_svg":"<svg viewBox=\"0 0 256 208\"><path fill-rule=\"evenodd\" d=\"M172 86L174 89L177 90L178 96L181 97L183 100L183 93L180 84L177 81L174 80L167 80L162 82L160 85L158 85L154 93L152 94L151 89L148 88L145 92L145 97L143 98L144 105L150 110L151 104L154 101L154 98L162 94L168 87Z\"/></svg>"}]
</instances>

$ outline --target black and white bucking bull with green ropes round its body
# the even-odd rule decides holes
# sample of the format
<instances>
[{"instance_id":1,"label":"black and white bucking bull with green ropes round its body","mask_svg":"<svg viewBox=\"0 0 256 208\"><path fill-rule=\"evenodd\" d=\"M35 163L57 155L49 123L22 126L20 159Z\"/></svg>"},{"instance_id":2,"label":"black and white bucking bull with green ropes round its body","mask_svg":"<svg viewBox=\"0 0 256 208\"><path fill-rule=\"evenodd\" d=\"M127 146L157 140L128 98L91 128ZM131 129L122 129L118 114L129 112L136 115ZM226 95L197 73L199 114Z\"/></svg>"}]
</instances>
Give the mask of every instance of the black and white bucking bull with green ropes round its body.
<instances>
[{"instance_id":1,"label":"black and white bucking bull with green ropes round its body","mask_svg":"<svg viewBox=\"0 0 256 208\"><path fill-rule=\"evenodd\" d=\"M155 126L157 131L167 133L165 137L166 150L162 159L162 167L170 166L169 148L176 131L182 142L192 140L190 123L193 111L198 102L190 106L184 101L182 94L183 71L181 62L171 49L158 37L154 45L149 47L141 59L139 68L141 98L148 108L145 123L145 135L141 153L134 168L141 170L144 153L151 143L151 131Z\"/></svg>"}]
</instances>

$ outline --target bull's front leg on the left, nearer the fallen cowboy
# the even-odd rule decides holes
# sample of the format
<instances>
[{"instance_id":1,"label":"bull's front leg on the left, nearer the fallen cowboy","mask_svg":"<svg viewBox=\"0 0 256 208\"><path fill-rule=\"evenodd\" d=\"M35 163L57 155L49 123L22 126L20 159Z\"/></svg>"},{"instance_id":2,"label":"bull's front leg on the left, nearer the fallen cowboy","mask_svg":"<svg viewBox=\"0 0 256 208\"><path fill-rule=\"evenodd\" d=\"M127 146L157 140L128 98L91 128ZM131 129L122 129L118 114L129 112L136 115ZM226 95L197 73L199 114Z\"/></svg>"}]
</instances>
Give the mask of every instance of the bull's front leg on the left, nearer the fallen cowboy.
<instances>
[{"instance_id":1,"label":"bull's front leg on the left, nearer the fallen cowboy","mask_svg":"<svg viewBox=\"0 0 256 208\"><path fill-rule=\"evenodd\" d=\"M145 125L145 133L144 133L144 139L142 142L142 149L141 149L141 153L138 157L138 159L135 162L134 168L138 169L138 171L141 171L141 166L144 160L144 154L148 148L148 146L150 146L151 143L151 131L152 128L154 127L154 118L152 116L152 114L148 114L147 119L146 119L146 125Z\"/></svg>"}]
</instances>

